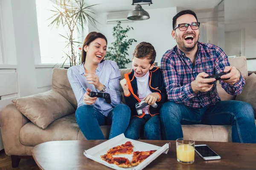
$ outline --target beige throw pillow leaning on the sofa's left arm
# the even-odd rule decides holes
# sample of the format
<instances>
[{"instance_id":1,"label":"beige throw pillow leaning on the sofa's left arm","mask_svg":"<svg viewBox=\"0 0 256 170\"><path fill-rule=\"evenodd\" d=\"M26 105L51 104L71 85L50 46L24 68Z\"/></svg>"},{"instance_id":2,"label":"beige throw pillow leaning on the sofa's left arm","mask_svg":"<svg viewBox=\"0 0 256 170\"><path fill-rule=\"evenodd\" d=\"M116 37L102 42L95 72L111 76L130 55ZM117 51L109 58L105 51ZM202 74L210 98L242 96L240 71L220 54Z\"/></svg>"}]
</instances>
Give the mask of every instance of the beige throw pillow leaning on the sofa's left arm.
<instances>
[{"instance_id":1,"label":"beige throw pillow leaning on the sofa's left arm","mask_svg":"<svg viewBox=\"0 0 256 170\"><path fill-rule=\"evenodd\" d=\"M73 106L53 90L13 99L12 102L24 116L42 129L56 119L75 112Z\"/></svg>"}]
</instances>

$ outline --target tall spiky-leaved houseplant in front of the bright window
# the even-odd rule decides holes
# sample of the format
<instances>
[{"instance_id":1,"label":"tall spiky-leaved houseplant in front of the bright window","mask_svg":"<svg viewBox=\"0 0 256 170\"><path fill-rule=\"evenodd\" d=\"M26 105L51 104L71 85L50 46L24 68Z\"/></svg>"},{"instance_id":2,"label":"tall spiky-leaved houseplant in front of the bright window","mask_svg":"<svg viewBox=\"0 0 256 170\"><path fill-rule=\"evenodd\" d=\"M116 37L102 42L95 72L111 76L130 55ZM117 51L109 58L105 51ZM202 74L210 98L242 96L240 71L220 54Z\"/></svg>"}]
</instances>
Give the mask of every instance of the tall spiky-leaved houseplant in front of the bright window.
<instances>
[{"instance_id":1,"label":"tall spiky-leaved houseplant in front of the bright window","mask_svg":"<svg viewBox=\"0 0 256 170\"><path fill-rule=\"evenodd\" d=\"M70 67L73 65L77 65L81 63L81 49L78 48L81 42L76 41L77 37L73 36L74 30L78 30L80 33L84 30L84 27L88 25L88 23L91 23L93 26L96 26L96 20L92 17L93 14L95 14L93 11L90 11L90 7L98 5L92 5L92 6L86 6L84 3L84 0L51 0L54 5L55 10L50 10L54 14L52 17L49 18L49 20L52 20L52 22L49 24L49 26L58 27L61 25L64 27L67 31L67 35L61 35L66 39L67 45L65 48L68 48L68 53L65 53L66 59L69 59L70 61ZM79 57L79 59L77 59ZM64 63L65 63L64 62ZM62 67L64 65L62 64Z\"/></svg>"}]
</instances>

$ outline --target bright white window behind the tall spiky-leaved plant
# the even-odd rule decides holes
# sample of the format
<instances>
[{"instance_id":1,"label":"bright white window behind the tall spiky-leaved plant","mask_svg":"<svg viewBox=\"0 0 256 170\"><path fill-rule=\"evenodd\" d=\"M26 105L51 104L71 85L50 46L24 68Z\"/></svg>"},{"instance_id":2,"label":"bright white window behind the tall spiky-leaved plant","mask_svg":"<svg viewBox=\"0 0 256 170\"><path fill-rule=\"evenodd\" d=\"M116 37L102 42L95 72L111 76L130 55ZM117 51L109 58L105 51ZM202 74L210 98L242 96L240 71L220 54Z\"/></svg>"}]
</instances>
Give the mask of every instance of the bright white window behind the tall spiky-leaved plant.
<instances>
[{"instance_id":1,"label":"bright white window behind the tall spiky-leaved plant","mask_svg":"<svg viewBox=\"0 0 256 170\"><path fill-rule=\"evenodd\" d=\"M67 37L65 30L68 29L63 28L61 25L58 29L56 27L49 26L52 19L48 19L54 14L54 12L49 11L49 9L55 10L53 5L54 3L50 0L36 0L38 35L42 64L61 64L67 58L65 53L68 54L68 49L65 48L67 45L67 42L65 41L67 41L67 39L61 36L63 35ZM73 32L73 37L78 37L78 32L76 30ZM69 59L67 59L65 63L69 64Z\"/></svg>"}]
</instances>

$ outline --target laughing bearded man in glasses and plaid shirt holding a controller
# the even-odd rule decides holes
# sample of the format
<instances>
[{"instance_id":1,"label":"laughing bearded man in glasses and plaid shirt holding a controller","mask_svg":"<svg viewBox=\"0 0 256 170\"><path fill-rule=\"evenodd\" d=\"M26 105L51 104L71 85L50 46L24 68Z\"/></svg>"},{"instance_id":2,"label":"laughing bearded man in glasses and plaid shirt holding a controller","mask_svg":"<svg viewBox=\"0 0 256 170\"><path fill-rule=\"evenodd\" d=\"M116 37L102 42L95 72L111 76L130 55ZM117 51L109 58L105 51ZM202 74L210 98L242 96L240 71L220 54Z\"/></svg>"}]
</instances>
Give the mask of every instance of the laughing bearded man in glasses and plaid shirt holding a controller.
<instances>
[{"instance_id":1,"label":"laughing bearded man in glasses and plaid shirt holding a controller","mask_svg":"<svg viewBox=\"0 0 256 170\"><path fill-rule=\"evenodd\" d=\"M238 95L245 84L240 71L230 66L221 48L198 42L200 23L195 12L180 11L173 17L172 25L177 45L161 59L169 100L160 109L163 139L182 138L181 124L232 125L233 142L256 143L252 106L221 101L215 79L205 78L230 71L221 76L220 84L228 94ZM214 84L209 85L210 82Z\"/></svg>"}]
</instances>

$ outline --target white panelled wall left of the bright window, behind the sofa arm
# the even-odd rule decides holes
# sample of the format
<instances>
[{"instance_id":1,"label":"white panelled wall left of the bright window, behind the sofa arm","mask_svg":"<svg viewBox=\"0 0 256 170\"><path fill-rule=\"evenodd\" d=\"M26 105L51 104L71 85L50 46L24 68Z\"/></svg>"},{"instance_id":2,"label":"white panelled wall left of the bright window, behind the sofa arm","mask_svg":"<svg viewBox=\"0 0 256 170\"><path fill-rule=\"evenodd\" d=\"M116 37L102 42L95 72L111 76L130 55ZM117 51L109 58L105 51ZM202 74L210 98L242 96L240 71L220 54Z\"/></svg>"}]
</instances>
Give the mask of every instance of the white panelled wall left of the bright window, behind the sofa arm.
<instances>
[{"instance_id":1,"label":"white panelled wall left of the bright window, behind the sofa arm","mask_svg":"<svg viewBox=\"0 0 256 170\"><path fill-rule=\"evenodd\" d=\"M40 59L35 0L0 0L0 22L1 110L16 97L51 89L52 66L35 65Z\"/></svg>"}]
</instances>

